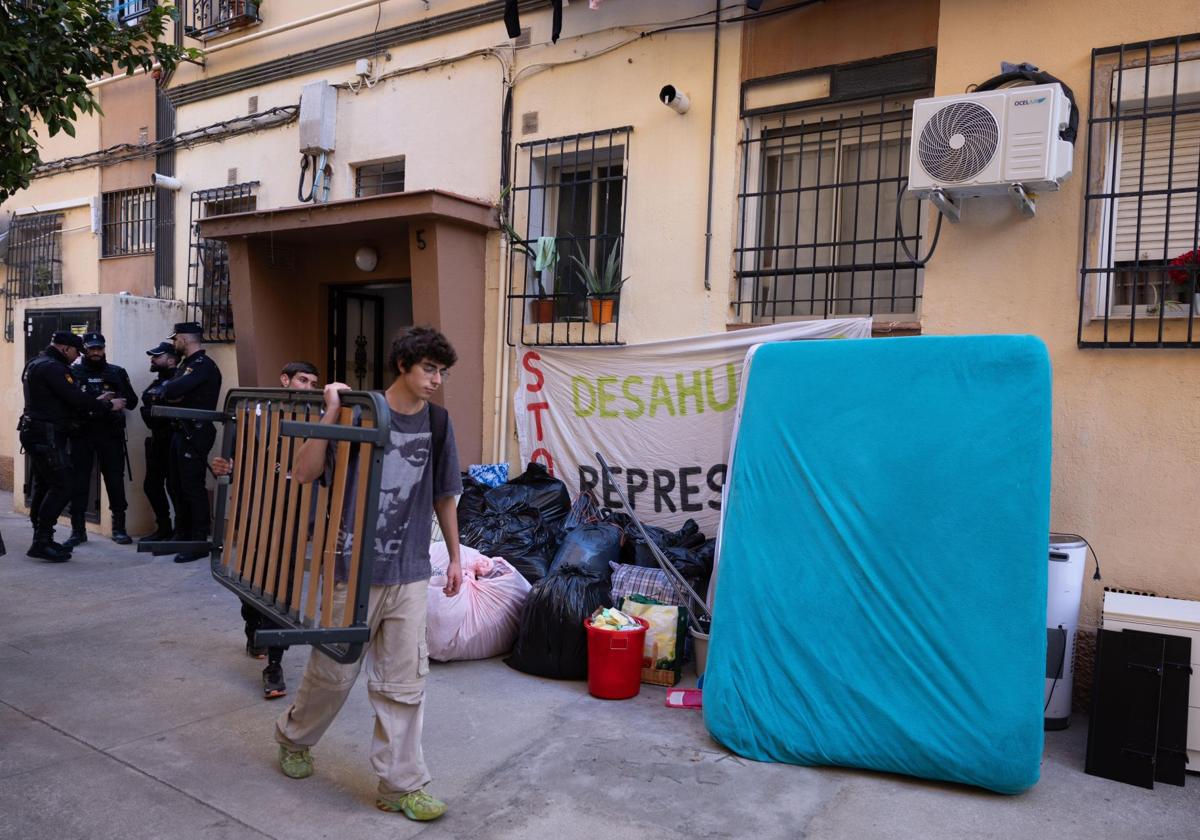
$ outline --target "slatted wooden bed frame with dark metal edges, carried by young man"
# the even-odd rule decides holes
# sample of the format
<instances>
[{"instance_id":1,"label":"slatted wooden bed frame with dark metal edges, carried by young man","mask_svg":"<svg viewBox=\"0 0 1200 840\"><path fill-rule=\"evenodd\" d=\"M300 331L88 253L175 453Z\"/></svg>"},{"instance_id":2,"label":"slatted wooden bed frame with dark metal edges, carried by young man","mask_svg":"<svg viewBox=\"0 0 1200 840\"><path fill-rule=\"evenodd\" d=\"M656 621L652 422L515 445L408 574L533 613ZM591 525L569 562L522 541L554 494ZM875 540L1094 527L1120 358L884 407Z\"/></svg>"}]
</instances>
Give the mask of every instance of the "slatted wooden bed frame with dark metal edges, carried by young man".
<instances>
[{"instance_id":1,"label":"slatted wooden bed frame with dark metal edges, carried by young man","mask_svg":"<svg viewBox=\"0 0 1200 840\"><path fill-rule=\"evenodd\" d=\"M278 629L260 647L312 644L353 662L370 631L367 598L378 517L388 403L379 392L343 391L338 421L320 421L319 391L233 389L221 412L156 406L156 416L224 425L221 454L234 472L217 484L211 542L140 544L155 554L211 551L212 576ZM330 440L320 481L301 484L292 464L305 438ZM335 584L344 583L344 607Z\"/></svg>"}]
</instances>

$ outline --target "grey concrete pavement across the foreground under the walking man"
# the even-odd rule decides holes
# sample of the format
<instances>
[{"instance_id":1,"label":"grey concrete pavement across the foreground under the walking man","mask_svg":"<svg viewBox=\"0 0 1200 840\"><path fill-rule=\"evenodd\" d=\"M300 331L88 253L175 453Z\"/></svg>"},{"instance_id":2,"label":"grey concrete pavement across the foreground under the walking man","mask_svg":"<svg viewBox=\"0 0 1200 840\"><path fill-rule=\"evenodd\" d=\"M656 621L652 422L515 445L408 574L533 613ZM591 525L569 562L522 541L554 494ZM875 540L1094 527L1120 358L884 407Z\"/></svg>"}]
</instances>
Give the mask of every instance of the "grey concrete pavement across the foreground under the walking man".
<instances>
[{"instance_id":1,"label":"grey concrete pavement across the foreground under the walking man","mask_svg":"<svg viewBox=\"0 0 1200 840\"><path fill-rule=\"evenodd\" d=\"M317 774L278 772L288 701L260 700L238 600L205 563L92 535L44 564L24 556L28 521L2 512L0 532L0 838L1200 838L1200 778L1142 791L1085 775L1084 720L1048 733L1032 791L1002 797L745 761L664 689L598 701L499 660L434 664L425 750L451 810L412 823L373 808L365 685ZM306 656L284 658L292 689Z\"/></svg>"}]
</instances>

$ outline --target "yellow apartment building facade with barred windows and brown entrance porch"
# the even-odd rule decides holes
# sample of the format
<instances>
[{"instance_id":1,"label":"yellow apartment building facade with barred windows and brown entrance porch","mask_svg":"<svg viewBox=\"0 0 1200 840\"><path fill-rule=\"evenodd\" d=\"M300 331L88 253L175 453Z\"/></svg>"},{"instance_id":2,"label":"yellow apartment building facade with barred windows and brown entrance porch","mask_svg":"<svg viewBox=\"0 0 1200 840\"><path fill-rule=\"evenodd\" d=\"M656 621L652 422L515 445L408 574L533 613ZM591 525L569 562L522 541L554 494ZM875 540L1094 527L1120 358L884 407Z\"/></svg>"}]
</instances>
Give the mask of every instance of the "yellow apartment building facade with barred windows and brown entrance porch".
<instances>
[{"instance_id":1,"label":"yellow apartment building facade with barred windows and brown entrance porch","mask_svg":"<svg viewBox=\"0 0 1200 840\"><path fill-rule=\"evenodd\" d=\"M1200 598L1200 356L1146 346L1159 325L1165 344L1186 343L1194 318L1182 287L1138 268L1183 246L1169 236L1122 256L1132 217L1128 197L1111 198L1114 150L1133 140L1105 121L1129 98L1112 80L1133 84L1144 67L1138 49L1180 68L1176 103L1200 97L1200 42L1175 41L1195 30L1194 2L776 0L722 10L720 26L712 4L692 0L595 5L566 5L557 42L551 4L536 0L517 4L518 38L503 1L263 0L236 5L236 19L185 16L181 37L205 49L203 66L161 80L169 113L122 131L149 124L152 143L169 125L187 143L120 164L127 185L113 166L74 169L38 178L2 210L74 202L61 211L62 292L179 301L172 312L205 320L227 385L271 384L283 361L308 358L328 378L372 386L391 332L438 325L462 350L445 400L472 460L517 458L521 341L635 343L844 314L872 317L880 336L1033 334L1055 372L1052 528L1085 535L1104 563L1103 582L1088 575L1082 626L1098 624L1103 586ZM1033 217L1004 197L967 199L918 268L898 239L926 253L936 211L911 198L896 209L912 102L961 92L1001 61L1073 89L1073 174L1037 198ZM102 97L119 85L138 113L154 110L155 91L136 80ZM320 120L300 113L307 98L319 114L323 96L324 157L311 144L302 154L301 122L319 134ZM1163 211L1172 220L1194 209L1196 179L1172 151L1195 148L1195 116L1175 109L1153 158L1178 158L1181 196L1190 178L1192 203ZM43 158L112 145L113 119L83 121ZM163 208L172 216L156 228L158 264L118 268L134 258L101 256L101 196L163 166L179 184L156 192L160 222ZM324 202L301 200L323 181ZM1147 210L1147 240L1162 236L1154 224ZM539 266L547 239L558 262ZM614 250L630 280L613 323L598 325L570 258L600 271ZM1105 325L1110 346L1096 346ZM6 342L0 370L19 372L23 353ZM19 383L4 388L0 446L13 457Z\"/></svg>"}]
</instances>

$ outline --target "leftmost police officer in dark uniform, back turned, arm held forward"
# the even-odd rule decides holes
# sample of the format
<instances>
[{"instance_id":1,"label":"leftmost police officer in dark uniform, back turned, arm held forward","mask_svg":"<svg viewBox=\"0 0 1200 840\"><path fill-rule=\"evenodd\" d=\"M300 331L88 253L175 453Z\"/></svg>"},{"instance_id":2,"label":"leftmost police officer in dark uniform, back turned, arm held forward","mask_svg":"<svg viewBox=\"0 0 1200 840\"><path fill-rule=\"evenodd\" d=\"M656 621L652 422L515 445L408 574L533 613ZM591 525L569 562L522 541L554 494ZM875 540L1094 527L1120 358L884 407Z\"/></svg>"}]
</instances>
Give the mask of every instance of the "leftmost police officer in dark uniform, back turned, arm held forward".
<instances>
[{"instance_id":1,"label":"leftmost police officer in dark uniform, back turned, arm held forward","mask_svg":"<svg viewBox=\"0 0 1200 840\"><path fill-rule=\"evenodd\" d=\"M55 332L49 346L25 366L20 374L25 390L25 410L18 431L20 445L30 457L34 492L29 518L34 523L34 544L26 552L53 563L71 559L71 550L54 541L54 523L71 502L71 460L67 431L80 410L101 408L120 412L124 406L112 392L98 397L82 391L71 373L71 362L79 358L83 340L71 332Z\"/></svg>"}]
</instances>

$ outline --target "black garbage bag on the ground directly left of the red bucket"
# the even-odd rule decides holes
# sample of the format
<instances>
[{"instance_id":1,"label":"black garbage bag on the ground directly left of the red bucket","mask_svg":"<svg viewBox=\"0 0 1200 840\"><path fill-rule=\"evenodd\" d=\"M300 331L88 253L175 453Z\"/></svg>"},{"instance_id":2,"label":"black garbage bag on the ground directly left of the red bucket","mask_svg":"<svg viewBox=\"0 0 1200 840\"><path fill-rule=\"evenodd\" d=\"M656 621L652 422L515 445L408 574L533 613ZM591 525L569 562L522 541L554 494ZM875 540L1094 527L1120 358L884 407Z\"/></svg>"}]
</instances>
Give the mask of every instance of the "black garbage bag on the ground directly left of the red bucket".
<instances>
[{"instance_id":1,"label":"black garbage bag on the ground directly left of the red bucket","mask_svg":"<svg viewBox=\"0 0 1200 840\"><path fill-rule=\"evenodd\" d=\"M534 583L521 612L517 643L504 662L535 677L587 679L583 622L599 607L612 606L608 586L608 578L574 566Z\"/></svg>"}]
</instances>

